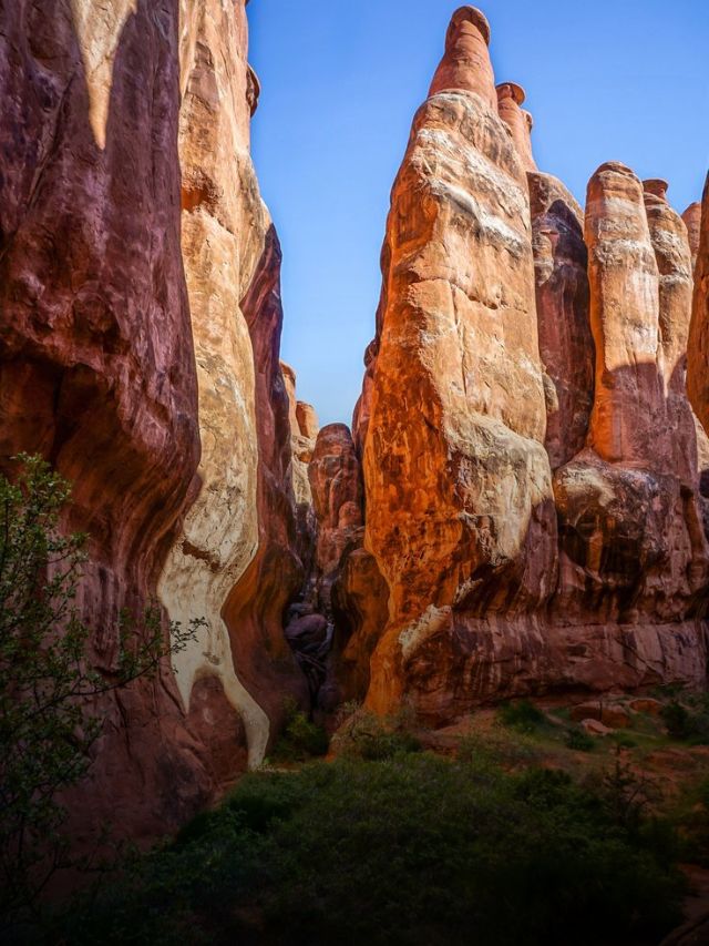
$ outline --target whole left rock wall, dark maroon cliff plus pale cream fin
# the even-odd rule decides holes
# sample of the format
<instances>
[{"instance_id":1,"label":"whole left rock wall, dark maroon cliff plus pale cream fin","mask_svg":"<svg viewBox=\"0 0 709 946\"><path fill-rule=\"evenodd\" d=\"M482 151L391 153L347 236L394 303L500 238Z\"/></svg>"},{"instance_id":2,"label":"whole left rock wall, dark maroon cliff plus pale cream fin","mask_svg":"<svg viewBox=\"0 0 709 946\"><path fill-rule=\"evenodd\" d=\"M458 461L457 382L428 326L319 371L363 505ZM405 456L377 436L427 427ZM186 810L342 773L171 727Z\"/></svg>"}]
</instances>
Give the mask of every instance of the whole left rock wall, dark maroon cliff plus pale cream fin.
<instances>
[{"instance_id":1,"label":"whole left rock wall, dark maroon cliff plus pale cream fin","mask_svg":"<svg viewBox=\"0 0 709 946\"><path fill-rule=\"evenodd\" d=\"M0 11L0 462L39 451L74 484L100 668L123 606L207 622L176 677L100 702L78 832L146 835L305 699L280 613L304 566L245 4L104 7Z\"/></svg>"}]
</instances>

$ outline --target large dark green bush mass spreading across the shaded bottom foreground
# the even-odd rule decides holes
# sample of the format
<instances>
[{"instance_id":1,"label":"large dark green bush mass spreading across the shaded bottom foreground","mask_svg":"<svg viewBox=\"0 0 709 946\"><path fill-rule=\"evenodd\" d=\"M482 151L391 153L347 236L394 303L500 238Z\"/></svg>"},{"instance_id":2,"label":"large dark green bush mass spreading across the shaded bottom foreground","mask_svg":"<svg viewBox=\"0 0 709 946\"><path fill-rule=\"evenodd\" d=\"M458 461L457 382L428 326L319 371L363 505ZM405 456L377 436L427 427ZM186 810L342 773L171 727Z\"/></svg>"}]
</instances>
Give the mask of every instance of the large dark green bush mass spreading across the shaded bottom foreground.
<instances>
[{"instance_id":1,"label":"large dark green bush mass spreading across the shaded bottom foreground","mask_svg":"<svg viewBox=\"0 0 709 946\"><path fill-rule=\"evenodd\" d=\"M625 786L625 782L624 782ZM599 946L679 919L672 832L568 775L428 753L253 773L59 930L68 944ZM501 908L504 907L504 908Z\"/></svg>"}]
</instances>

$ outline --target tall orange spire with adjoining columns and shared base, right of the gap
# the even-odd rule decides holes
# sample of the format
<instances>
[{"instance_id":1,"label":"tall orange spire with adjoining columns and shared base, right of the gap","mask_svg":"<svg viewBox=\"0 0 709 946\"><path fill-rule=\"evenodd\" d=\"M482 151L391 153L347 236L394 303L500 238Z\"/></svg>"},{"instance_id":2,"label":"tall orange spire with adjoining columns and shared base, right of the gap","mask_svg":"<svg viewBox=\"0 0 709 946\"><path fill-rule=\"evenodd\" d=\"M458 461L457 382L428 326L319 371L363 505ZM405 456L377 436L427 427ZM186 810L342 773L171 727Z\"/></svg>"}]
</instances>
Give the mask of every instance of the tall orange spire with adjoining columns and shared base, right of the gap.
<instances>
[{"instance_id":1,"label":"tall orange spire with adjoining columns and shared base, right of the gap","mask_svg":"<svg viewBox=\"0 0 709 946\"><path fill-rule=\"evenodd\" d=\"M414 119L353 419L390 592L368 703L434 723L706 677L687 228L615 163L584 220L536 171L520 87L495 94L489 38L454 14Z\"/></svg>"}]
</instances>

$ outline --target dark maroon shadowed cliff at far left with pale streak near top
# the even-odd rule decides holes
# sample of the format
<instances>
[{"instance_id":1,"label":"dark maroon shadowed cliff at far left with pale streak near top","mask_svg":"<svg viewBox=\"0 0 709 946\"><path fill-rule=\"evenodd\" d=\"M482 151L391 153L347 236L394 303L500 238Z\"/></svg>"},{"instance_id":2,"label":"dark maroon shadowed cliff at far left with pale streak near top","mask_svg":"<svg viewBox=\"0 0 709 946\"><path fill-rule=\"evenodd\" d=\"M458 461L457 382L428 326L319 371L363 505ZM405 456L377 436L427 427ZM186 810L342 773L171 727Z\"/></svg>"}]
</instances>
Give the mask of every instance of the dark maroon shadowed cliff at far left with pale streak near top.
<instances>
[{"instance_id":1,"label":"dark maroon shadowed cliff at far left with pale streak near top","mask_svg":"<svg viewBox=\"0 0 709 946\"><path fill-rule=\"evenodd\" d=\"M199 437L179 251L177 3L155 16L113 4L100 23L90 7L0 10L0 455L11 471L9 457L41 451L74 484L65 526L91 537L80 603L105 669L119 609L141 611L155 590ZM84 823L140 832L204 802L208 753L169 672L100 712Z\"/></svg>"}]
</instances>

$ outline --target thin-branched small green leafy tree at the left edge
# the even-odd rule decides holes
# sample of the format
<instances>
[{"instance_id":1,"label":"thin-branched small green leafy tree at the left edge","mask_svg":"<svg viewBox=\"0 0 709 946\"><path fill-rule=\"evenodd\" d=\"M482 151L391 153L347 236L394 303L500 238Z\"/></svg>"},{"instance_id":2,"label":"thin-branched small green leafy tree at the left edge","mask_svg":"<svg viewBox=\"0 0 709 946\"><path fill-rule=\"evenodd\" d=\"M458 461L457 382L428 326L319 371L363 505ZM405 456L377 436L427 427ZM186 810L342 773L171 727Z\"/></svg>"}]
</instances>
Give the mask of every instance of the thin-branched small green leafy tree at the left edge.
<instances>
[{"instance_id":1,"label":"thin-branched small green leafy tree at the left edge","mask_svg":"<svg viewBox=\"0 0 709 946\"><path fill-rule=\"evenodd\" d=\"M59 795L86 774L101 733L89 701L155 673L204 623L194 620L186 630L172 623L167 638L155 604L140 622L123 612L115 669L96 672L75 603L86 538L59 529L70 485L41 457L17 459L17 480L0 476L0 915L7 923L35 913L55 871L76 866Z\"/></svg>"}]
</instances>

